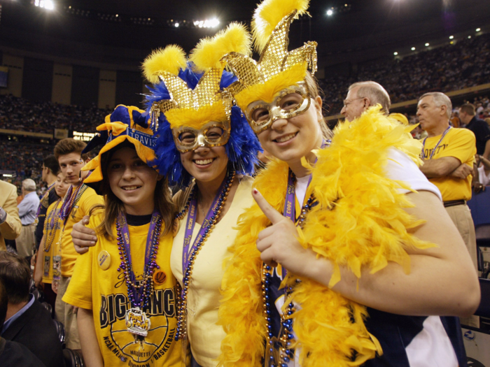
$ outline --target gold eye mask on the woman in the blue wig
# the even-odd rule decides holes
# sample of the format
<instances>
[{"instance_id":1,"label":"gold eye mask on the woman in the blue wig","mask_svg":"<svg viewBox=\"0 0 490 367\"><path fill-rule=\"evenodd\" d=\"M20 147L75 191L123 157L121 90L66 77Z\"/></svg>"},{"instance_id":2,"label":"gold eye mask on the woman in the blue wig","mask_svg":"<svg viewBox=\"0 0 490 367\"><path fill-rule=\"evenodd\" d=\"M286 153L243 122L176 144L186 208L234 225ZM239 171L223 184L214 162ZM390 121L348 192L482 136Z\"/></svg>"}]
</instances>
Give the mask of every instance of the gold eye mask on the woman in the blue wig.
<instances>
[{"instance_id":1,"label":"gold eye mask on the woman in the blue wig","mask_svg":"<svg viewBox=\"0 0 490 367\"><path fill-rule=\"evenodd\" d=\"M201 129L178 127L172 129L175 146L181 153L195 150L198 147L221 147L230 138L230 122L210 121Z\"/></svg>"}]
</instances>

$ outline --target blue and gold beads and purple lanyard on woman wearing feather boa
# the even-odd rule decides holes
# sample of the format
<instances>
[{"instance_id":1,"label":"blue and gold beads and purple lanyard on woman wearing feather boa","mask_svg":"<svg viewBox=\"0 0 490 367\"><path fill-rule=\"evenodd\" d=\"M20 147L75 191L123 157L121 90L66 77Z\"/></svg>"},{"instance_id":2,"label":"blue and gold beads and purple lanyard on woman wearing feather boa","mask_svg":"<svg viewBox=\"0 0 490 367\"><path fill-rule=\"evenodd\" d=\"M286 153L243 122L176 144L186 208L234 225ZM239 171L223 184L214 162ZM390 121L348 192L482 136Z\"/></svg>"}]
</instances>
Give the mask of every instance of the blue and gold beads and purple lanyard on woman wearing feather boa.
<instances>
[{"instance_id":1,"label":"blue and gold beads and purple lanyard on woman wearing feather boa","mask_svg":"<svg viewBox=\"0 0 490 367\"><path fill-rule=\"evenodd\" d=\"M288 188L286 190L286 200L284 201L283 215L295 222L295 175L293 171L289 170L288 173ZM311 182L311 176L308 181ZM297 219L296 225L301 229L304 226L304 220L306 215L314 206L315 197L313 192L309 196L307 203L301 208L300 216ZM287 367L290 359L294 357L294 350L290 347L294 339L293 335L293 319L291 318L295 312L295 306L293 302L288 303L286 310L281 314L281 330L279 331L279 340L274 338L271 325L271 305L274 305L274 300L271 298L270 283L272 273L274 270L267 264L262 264L262 302L265 305L264 317L265 325L267 328L266 347L265 347L265 362L269 367ZM283 277L286 277L286 269L283 268ZM296 280L299 282L299 280ZM284 287L284 301L286 302L293 292L293 287ZM272 301L272 302L271 302ZM279 343L279 353L274 349L276 341ZM276 365L276 361L279 361L279 365Z\"/></svg>"}]
</instances>

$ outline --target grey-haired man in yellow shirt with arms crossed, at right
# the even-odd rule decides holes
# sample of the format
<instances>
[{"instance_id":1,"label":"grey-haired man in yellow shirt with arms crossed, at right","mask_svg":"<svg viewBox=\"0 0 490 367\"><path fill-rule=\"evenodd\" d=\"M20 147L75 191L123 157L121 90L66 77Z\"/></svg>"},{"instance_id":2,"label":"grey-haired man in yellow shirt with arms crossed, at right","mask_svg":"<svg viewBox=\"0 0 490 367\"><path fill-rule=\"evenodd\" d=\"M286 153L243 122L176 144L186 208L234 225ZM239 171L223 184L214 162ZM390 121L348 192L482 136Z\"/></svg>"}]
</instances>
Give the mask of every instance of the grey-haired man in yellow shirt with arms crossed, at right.
<instances>
[{"instance_id":1,"label":"grey-haired man in yellow shirt with arms crossed, at right","mask_svg":"<svg viewBox=\"0 0 490 367\"><path fill-rule=\"evenodd\" d=\"M466 201L471 199L476 140L472 131L449 126L451 110L451 100L441 92L430 92L420 97L416 115L428 134L423 140L423 166L420 169L440 190L444 207L461 233L477 269L475 225L466 206ZM479 326L474 322L468 324Z\"/></svg>"}]
</instances>

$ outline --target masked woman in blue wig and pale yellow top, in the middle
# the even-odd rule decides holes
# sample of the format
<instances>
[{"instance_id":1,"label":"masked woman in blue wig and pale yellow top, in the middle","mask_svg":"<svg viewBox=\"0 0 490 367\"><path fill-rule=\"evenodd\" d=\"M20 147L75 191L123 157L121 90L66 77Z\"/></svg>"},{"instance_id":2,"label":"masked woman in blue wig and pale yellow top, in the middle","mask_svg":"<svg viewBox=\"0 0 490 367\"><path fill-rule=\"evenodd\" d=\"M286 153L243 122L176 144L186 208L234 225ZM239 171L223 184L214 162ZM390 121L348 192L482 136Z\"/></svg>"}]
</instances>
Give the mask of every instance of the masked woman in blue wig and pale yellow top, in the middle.
<instances>
[{"instance_id":1,"label":"masked woman in blue wig and pale yellow top, in the middle","mask_svg":"<svg viewBox=\"0 0 490 367\"><path fill-rule=\"evenodd\" d=\"M214 367L223 328L216 324L223 262L235 240L238 217L253 204L251 175L260 150L241 110L232 106L228 87L236 78L223 71L221 58L246 52L248 32L230 24L214 38L201 41L189 62L171 45L150 55L144 74L153 82L147 96L148 118L158 130L153 162L170 185L179 208L172 247L172 272L181 285L178 336L190 342L192 357L184 364ZM78 245L82 226L72 233ZM187 349L184 350L187 356Z\"/></svg>"}]
</instances>

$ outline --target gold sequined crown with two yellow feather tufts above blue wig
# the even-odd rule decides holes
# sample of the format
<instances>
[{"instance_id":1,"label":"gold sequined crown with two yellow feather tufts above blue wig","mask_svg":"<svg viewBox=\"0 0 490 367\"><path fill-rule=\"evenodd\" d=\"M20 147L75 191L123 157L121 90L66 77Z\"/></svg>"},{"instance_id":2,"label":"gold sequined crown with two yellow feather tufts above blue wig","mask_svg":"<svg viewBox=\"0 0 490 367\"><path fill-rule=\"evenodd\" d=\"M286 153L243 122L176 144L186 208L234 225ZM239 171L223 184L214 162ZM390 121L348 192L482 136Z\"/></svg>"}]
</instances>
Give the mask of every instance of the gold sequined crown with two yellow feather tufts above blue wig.
<instances>
[{"instance_id":1,"label":"gold sequined crown with two yellow feather tufts above blue wig","mask_svg":"<svg viewBox=\"0 0 490 367\"><path fill-rule=\"evenodd\" d=\"M183 126L200 129L209 121L229 120L232 96L220 88L225 68L223 56L230 52L248 53L250 45L251 36L238 23L200 41L188 59L196 71L204 72L194 89L179 78L179 71L187 65L185 52L179 46L168 45L154 51L143 63L144 75L153 84L164 82L170 99L153 102L152 121L158 121L160 113L165 113L172 129Z\"/></svg>"}]
</instances>

